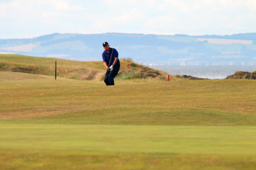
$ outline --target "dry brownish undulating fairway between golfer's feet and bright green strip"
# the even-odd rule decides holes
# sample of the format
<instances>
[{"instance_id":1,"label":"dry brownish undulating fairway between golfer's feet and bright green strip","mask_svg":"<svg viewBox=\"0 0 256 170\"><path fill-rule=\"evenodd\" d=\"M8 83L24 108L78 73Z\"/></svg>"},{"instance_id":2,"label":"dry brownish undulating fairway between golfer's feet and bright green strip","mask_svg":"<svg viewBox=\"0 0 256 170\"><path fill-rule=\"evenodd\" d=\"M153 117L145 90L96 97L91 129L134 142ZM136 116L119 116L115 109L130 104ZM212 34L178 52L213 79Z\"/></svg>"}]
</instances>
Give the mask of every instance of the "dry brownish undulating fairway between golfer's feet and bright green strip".
<instances>
[{"instance_id":1,"label":"dry brownish undulating fairway between golfer's feet and bright green strip","mask_svg":"<svg viewBox=\"0 0 256 170\"><path fill-rule=\"evenodd\" d=\"M1 114L79 124L255 125L250 80L2 81ZM250 90L249 90L250 89Z\"/></svg>"}]
</instances>

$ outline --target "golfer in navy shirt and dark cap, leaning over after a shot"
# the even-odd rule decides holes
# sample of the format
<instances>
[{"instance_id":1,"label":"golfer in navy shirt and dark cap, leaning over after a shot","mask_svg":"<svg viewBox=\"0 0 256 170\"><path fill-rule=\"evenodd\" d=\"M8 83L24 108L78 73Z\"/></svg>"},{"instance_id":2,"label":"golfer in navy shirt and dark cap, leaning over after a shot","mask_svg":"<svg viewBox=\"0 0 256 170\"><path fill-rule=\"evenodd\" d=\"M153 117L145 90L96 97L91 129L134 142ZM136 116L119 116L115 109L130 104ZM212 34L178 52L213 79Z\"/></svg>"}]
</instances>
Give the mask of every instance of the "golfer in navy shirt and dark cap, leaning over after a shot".
<instances>
[{"instance_id":1,"label":"golfer in navy shirt and dark cap, leaning over after a shot","mask_svg":"<svg viewBox=\"0 0 256 170\"><path fill-rule=\"evenodd\" d=\"M115 48L109 48L108 42L104 42L102 45L104 48L104 52L102 53L102 59L104 66L107 69L104 81L106 85L115 85L114 78L120 69L118 52Z\"/></svg>"}]
</instances>

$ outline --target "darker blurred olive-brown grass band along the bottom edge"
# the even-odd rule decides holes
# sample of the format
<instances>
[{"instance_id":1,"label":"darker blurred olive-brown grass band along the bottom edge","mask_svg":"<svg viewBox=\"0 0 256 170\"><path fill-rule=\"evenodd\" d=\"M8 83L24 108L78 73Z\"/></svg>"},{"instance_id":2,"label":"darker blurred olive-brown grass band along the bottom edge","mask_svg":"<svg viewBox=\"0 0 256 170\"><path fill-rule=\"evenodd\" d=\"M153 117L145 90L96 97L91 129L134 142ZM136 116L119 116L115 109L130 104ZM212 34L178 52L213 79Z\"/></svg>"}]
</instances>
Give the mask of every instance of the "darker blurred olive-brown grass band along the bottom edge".
<instances>
[{"instance_id":1,"label":"darker blurred olive-brown grass band along the bottom edge","mask_svg":"<svg viewBox=\"0 0 256 170\"><path fill-rule=\"evenodd\" d=\"M0 153L1 169L255 169L256 161L247 155L28 150Z\"/></svg>"}]
</instances>

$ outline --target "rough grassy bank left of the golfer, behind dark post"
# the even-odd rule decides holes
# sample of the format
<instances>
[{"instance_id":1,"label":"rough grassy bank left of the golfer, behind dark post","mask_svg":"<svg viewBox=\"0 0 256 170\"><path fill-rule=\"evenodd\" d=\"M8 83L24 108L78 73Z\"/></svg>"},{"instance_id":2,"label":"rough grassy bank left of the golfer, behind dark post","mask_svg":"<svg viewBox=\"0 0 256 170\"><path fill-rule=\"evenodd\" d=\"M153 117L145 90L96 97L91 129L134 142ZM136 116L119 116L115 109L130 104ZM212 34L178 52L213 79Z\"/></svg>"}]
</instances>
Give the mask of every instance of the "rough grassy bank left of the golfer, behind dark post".
<instances>
[{"instance_id":1,"label":"rough grassy bank left of the golfer, behind dark post","mask_svg":"<svg viewBox=\"0 0 256 170\"><path fill-rule=\"evenodd\" d=\"M100 80L104 75L102 62L80 62L13 54L0 54L0 71L54 76L55 61L57 61L58 77L76 80Z\"/></svg>"}]
</instances>

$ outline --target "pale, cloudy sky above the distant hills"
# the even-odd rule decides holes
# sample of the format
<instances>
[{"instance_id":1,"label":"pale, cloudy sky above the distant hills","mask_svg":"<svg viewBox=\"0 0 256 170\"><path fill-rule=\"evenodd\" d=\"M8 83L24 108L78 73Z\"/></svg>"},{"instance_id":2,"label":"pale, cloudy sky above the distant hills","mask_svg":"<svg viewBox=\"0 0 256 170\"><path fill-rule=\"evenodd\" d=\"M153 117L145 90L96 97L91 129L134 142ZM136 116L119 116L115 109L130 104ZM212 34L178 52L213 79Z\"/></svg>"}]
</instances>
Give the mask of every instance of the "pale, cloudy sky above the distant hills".
<instances>
[{"instance_id":1,"label":"pale, cloudy sky above the distant hills","mask_svg":"<svg viewBox=\"0 0 256 170\"><path fill-rule=\"evenodd\" d=\"M256 32L255 0L0 0L0 38Z\"/></svg>"}]
</instances>

